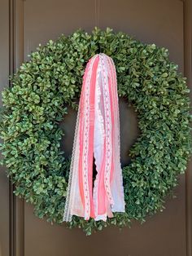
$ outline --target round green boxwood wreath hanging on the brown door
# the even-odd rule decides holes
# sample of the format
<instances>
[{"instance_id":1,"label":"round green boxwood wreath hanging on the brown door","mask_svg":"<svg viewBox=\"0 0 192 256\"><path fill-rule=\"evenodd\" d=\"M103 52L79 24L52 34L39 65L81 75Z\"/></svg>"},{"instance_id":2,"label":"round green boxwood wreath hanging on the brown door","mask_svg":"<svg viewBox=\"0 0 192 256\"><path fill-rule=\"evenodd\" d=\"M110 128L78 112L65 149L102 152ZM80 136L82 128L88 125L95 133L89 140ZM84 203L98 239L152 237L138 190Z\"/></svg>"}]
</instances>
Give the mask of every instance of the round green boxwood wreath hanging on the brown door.
<instances>
[{"instance_id":1,"label":"round green boxwood wreath hanging on the brown door","mask_svg":"<svg viewBox=\"0 0 192 256\"><path fill-rule=\"evenodd\" d=\"M114 60L119 96L133 105L141 134L123 168L126 213L107 223L73 217L69 226L87 235L111 224L130 227L131 220L144 222L162 211L191 153L190 90L168 50L112 29L80 29L39 45L2 91L2 164L15 195L33 203L39 218L63 223L70 159L60 149L59 122L68 106L77 108L85 64L99 52Z\"/></svg>"}]
</instances>

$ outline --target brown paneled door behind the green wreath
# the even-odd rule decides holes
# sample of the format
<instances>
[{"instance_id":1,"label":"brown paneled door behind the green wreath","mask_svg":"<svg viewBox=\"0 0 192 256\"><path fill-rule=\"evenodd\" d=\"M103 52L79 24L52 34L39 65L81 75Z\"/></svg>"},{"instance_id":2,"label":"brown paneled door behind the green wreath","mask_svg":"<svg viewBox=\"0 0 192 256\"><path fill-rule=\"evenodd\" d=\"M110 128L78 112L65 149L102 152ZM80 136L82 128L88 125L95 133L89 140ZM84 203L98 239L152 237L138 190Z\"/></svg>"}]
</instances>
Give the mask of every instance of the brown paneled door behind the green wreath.
<instances>
[{"instance_id":1,"label":"brown paneled door behind the green wreath","mask_svg":"<svg viewBox=\"0 0 192 256\"><path fill-rule=\"evenodd\" d=\"M80 27L90 32L95 25L101 29L108 26L142 42L167 47L170 59L179 64L190 85L190 5L190 0L1 0L1 90L8 83L8 74L27 60L27 55L39 43ZM129 135L124 133L128 143L123 143L123 151L129 149L137 137L136 118L131 109L125 108L122 104L120 115L121 120L126 119L128 123L121 121L121 126L126 128L129 124ZM125 113L126 118L122 118ZM33 205L12 196L11 184L2 168L0 255L191 256L190 176L189 165L175 190L177 198L168 198L164 212L148 218L146 223L133 223L133 227L122 231L110 227L85 236L81 230L68 230L35 217Z\"/></svg>"}]
</instances>

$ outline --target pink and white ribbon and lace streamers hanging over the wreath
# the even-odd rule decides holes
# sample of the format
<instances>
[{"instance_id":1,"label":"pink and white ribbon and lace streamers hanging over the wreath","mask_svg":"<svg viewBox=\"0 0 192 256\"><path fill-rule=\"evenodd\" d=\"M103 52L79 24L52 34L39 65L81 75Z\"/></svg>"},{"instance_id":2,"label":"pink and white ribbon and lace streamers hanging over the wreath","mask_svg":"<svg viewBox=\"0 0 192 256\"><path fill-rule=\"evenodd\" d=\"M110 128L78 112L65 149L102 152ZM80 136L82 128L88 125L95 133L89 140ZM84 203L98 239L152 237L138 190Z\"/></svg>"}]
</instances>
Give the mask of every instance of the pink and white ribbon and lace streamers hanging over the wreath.
<instances>
[{"instance_id":1,"label":"pink and white ribbon and lace streamers hanging over the wreath","mask_svg":"<svg viewBox=\"0 0 192 256\"><path fill-rule=\"evenodd\" d=\"M72 215L106 221L112 212L124 212L119 104L115 64L100 53L83 77L63 221Z\"/></svg>"}]
</instances>

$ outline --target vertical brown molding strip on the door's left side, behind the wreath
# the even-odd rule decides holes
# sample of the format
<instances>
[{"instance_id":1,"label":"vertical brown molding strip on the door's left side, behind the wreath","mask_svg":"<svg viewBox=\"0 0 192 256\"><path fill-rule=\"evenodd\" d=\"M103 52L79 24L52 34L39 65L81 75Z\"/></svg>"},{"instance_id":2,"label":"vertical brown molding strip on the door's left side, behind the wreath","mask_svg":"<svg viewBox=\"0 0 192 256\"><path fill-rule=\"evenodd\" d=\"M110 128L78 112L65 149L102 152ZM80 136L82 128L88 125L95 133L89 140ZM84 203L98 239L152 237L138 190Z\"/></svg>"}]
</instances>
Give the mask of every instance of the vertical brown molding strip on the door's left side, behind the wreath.
<instances>
[{"instance_id":1,"label":"vertical brown molding strip on the door's left side, behind the wreath","mask_svg":"<svg viewBox=\"0 0 192 256\"><path fill-rule=\"evenodd\" d=\"M9 0L9 75L24 60L24 1ZM11 82L9 83L11 86ZM10 256L24 256L24 200L9 180Z\"/></svg>"}]
</instances>

